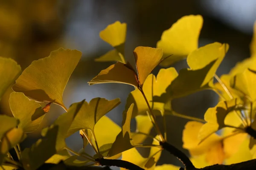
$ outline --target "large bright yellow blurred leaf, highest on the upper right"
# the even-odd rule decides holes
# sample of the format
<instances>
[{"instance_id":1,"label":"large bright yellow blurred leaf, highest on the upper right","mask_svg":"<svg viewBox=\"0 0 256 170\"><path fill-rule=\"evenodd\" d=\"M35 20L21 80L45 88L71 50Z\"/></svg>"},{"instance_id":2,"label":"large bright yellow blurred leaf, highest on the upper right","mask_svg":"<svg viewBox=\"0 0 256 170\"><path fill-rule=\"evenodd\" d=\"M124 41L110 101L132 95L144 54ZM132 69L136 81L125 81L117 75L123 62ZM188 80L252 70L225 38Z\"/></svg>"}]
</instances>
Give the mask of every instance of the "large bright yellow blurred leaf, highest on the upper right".
<instances>
[{"instance_id":1,"label":"large bright yellow blurred leaf, highest on the upper right","mask_svg":"<svg viewBox=\"0 0 256 170\"><path fill-rule=\"evenodd\" d=\"M171 28L163 31L161 40L157 42L157 48L163 48L165 56L172 56L165 59L161 65L172 65L197 49L202 26L201 15L189 15L180 18Z\"/></svg>"}]
</instances>

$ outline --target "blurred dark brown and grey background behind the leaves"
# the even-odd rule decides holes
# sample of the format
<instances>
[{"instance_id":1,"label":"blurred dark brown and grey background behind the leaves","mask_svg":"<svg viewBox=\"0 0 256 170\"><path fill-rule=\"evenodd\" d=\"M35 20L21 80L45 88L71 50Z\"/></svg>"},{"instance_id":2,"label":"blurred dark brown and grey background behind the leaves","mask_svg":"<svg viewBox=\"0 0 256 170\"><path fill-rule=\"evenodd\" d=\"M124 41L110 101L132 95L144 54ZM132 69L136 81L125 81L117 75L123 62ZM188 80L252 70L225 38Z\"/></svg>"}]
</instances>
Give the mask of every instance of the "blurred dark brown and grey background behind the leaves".
<instances>
[{"instance_id":1,"label":"blurred dark brown and grey background behind the leaves","mask_svg":"<svg viewBox=\"0 0 256 170\"><path fill-rule=\"evenodd\" d=\"M250 57L249 44L256 20L255 0L1 0L0 1L0 56L15 59L22 69L33 60L49 56L60 47L77 49L83 56L70 77L64 91L64 104L69 106L82 99L95 97L122 101L107 115L118 125L122 122L122 111L133 87L124 84L102 84L89 86L87 82L111 62L94 62L112 47L99 38L99 32L108 24L119 20L127 23L126 56L132 56L137 46L155 47L164 30L169 29L180 17L201 14L204 25L199 46L211 42L227 42L230 49L217 71L218 76L230 71L236 62ZM187 67L186 61L173 65L177 71ZM160 67L154 70L157 74ZM9 94L0 102L0 113L11 115ZM216 105L218 96L212 91L202 91L184 98L175 99L172 106L178 113L203 118L209 107ZM41 128L53 122L64 110L51 105ZM188 120L168 116L169 142L182 149L182 130ZM135 124L133 122L133 129ZM29 147L40 137L39 128L30 133L22 147ZM152 130L153 131L153 130ZM154 133L154 132L152 132ZM147 142L151 142L148 140ZM79 134L67 139L74 150L82 147ZM186 150L182 149L188 153ZM148 150L140 150L147 156ZM163 152L158 164L179 161Z\"/></svg>"}]
</instances>

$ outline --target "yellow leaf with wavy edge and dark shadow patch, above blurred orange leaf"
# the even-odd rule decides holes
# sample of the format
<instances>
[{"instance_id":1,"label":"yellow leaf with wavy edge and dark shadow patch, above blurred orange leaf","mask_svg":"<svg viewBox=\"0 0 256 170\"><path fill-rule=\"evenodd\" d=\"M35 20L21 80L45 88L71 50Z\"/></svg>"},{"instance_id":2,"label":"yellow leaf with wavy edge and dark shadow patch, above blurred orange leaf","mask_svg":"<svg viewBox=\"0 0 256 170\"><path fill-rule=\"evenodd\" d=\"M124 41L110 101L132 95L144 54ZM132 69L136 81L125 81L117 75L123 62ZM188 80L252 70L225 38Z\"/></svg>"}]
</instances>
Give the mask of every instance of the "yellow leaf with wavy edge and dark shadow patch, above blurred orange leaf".
<instances>
[{"instance_id":1,"label":"yellow leaf with wavy edge and dark shadow patch, above blurred orange leaf","mask_svg":"<svg viewBox=\"0 0 256 170\"><path fill-rule=\"evenodd\" d=\"M224 120L228 113L239 109L237 105L239 105L237 99L232 99L229 101L218 102L214 108L208 108L204 114L204 120L207 123L202 126L198 138L204 140L212 133L226 127Z\"/></svg>"}]
</instances>

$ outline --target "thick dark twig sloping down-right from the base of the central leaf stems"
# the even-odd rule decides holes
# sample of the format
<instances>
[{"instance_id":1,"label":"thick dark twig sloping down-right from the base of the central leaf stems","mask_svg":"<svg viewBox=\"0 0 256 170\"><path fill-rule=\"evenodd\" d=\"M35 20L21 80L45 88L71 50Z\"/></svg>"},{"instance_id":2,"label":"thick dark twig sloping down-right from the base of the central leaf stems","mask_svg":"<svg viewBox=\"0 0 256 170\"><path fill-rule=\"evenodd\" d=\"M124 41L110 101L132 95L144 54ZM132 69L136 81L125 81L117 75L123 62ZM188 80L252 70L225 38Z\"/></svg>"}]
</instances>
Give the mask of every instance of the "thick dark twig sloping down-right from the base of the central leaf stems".
<instances>
[{"instance_id":1,"label":"thick dark twig sloping down-right from the base of the central leaf stems","mask_svg":"<svg viewBox=\"0 0 256 170\"><path fill-rule=\"evenodd\" d=\"M192 164L189 157L187 157L186 154L183 153L181 150L177 149L175 146L167 142L160 142L160 145L163 147L164 150L167 150L169 153L176 156L186 167L186 170L195 169L195 166Z\"/></svg>"}]
</instances>

